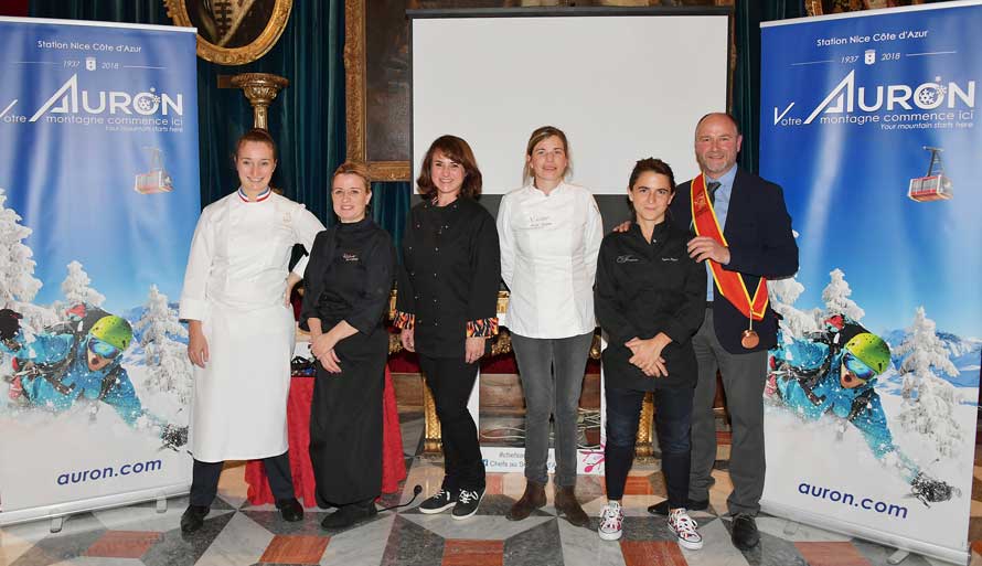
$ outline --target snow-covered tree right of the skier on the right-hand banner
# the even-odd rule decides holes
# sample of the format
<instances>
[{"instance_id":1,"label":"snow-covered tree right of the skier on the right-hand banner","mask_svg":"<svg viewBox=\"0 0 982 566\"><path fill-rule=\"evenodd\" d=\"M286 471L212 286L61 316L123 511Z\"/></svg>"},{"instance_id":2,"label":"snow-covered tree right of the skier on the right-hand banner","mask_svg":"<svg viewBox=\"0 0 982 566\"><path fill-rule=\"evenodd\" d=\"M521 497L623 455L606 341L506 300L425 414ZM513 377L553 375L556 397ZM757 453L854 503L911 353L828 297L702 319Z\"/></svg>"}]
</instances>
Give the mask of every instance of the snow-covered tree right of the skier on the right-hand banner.
<instances>
[{"instance_id":1,"label":"snow-covered tree right of the skier on the right-hand banner","mask_svg":"<svg viewBox=\"0 0 982 566\"><path fill-rule=\"evenodd\" d=\"M951 456L961 446L964 431L954 418L961 396L954 386L938 377L936 371L958 375L948 349L936 332L935 321L918 307L907 338L894 351L906 356L900 363L904 377L904 409L897 417L906 430L917 431L931 441L939 456Z\"/></svg>"}]
</instances>

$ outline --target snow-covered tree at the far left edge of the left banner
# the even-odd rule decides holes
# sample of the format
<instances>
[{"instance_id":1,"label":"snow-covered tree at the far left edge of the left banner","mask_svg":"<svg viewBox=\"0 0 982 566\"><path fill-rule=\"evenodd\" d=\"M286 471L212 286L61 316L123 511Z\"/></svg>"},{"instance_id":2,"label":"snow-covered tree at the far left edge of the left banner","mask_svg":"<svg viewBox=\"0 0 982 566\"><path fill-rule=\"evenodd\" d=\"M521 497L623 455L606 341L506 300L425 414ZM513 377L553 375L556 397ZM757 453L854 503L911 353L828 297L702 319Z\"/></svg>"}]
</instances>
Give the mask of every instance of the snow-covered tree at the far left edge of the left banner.
<instances>
[{"instance_id":1,"label":"snow-covered tree at the far left edge of the left banner","mask_svg":"<svg viewBox=\"0 0 982 566\"><path fill-rule=\"evenodd\" d=\"M31 303L41 289L41 280L34 277L34 253L23 243L32 231L21 225L21 220L13 209L7 207L7 195L0 189L0 303L20 312L24 317L21 325L31 333L55 320L53 312Z\"/></svg>"}]
</instances>

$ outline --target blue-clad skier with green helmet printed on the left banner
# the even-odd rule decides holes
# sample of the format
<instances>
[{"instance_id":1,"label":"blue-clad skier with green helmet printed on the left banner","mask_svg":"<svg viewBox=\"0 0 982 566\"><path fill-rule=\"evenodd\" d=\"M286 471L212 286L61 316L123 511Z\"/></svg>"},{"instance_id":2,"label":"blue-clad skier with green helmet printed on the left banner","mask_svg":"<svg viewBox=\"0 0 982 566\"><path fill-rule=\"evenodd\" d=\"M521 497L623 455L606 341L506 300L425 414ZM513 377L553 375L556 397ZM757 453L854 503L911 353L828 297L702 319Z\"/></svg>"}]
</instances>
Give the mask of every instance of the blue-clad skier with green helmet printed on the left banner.
<instances>
[{"instance_id":1,"label":"blue-clad skier with green helmet printed on the left banner","mask_svg":"<svg viewBox=\"0 0 982 566\"><path fill-rule=\"evenodd\" d=\"M105 403L129 426L159 430L164 447L177 449L186 444L188 427L163 423L143 409L121 365L134 338L130 323L86 305L77 305L66 314L67 321L29 342L20 328L21 314L0 310L0 350L13 359L14 373L7 377L10 403L52 413L88 403L92 419Z\"/></svg>"}]
</instances>

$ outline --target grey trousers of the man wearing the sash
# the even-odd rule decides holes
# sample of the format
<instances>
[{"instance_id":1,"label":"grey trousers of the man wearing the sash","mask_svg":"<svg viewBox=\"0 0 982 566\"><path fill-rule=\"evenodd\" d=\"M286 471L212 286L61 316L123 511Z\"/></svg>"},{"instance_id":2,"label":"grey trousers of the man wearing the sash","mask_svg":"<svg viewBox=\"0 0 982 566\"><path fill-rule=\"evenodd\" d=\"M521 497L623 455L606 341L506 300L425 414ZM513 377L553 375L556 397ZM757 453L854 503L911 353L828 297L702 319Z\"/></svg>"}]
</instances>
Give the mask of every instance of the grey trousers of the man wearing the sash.
<instances>
[{"instance_id":1,"label":"grey trousers of the man wearing the sash","mask_svg":"<svg viewBox=\"0 0 982 566\"><path fill-rule=\"evenodd\" d=\"M766 462L764 455L764 384L767 352L732 354L719 345L713 328L713 309L706 309L703 325L692 339L698 362L698 383L692 402L692 469L689 499L706 501L713 485L716 460L716 371L723 376L726 408L733 423L729 478L733 492L727 499L732 514L760 511Z\"/></svg>"}]
</instances>

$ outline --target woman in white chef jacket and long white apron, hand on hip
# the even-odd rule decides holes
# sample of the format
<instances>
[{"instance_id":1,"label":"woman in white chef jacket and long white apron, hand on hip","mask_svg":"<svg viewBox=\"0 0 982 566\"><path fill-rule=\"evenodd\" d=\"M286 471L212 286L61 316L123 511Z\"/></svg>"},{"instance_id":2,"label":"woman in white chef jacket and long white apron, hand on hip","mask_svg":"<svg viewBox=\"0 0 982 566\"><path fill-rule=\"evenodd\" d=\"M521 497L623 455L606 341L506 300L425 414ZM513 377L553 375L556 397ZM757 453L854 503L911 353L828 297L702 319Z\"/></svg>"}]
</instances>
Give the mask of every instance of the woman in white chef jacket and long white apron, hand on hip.
<instances>
[{"instance_id":1,"label":"woman in white chef jacket and long white apron, hand on hip","mask_svg":"<svg viewBox=\"0 0 982 566\"><path fill-rule=\"evenodd\" d=\"M288 263L295 244L309 252L324 227L302 204L269 190L276 145L266 130L239 138L235 168L238 190L201 213L181 293L195 366L185 533L201 528L224 460L263 459L282 517L303 517L287 453L293 311L286 297L307 257L289 274Z\"/></svg>"}]
</instances>

